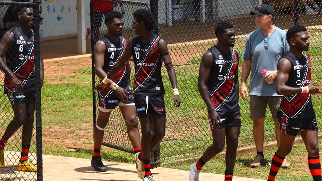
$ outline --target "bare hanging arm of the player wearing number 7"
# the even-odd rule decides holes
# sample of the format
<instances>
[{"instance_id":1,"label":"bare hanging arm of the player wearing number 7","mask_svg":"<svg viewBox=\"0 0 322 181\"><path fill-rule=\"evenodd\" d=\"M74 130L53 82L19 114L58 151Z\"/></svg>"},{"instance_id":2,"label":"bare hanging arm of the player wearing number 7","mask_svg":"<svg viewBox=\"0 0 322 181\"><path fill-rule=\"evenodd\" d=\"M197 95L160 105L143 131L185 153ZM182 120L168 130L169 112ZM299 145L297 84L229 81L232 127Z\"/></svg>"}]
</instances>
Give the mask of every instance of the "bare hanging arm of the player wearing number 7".
<instances>
[{"instance_id":1,"label":"bare hanging arm of the player wearing number 7","mask_svg":"<svg viewBox=\"0 0 322 181\"><path fill-rule=\"evenodd\" d=\"M199 68L198 90L204 102L206 103L208 110L210 111L211 121L213 125L215 125L215 128L219 128L219 124L218 124L219 115L217 111L215 111L215 108L211 103L210 95L206 87L212 64L213 64L212 53L211 52L204 53L201 59L200 68Z\"/></svg>"}]
</instances>

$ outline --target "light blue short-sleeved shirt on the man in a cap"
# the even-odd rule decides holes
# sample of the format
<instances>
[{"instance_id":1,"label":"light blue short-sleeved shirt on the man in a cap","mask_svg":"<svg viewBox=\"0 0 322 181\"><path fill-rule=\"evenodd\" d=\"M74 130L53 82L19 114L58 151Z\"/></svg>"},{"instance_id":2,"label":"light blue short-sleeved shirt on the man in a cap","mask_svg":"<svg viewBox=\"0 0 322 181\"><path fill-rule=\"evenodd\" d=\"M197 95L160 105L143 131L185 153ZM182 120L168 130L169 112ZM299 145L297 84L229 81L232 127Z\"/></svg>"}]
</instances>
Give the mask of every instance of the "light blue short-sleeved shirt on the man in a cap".
<instances>
[{"instance_id":1,"label":"light blue short-sleeved shirt on the man in a cap","mask_svg":"<svg viewBox=\"0 0 322 181\"><path fill-rule=\"evenodd\" d=\"M272 84L267 84L261 74L262 69L277 70L277 63L281 56L289 50L286 32L275 26L268 36L268 48L265 47L265 35L259 28L250 33L246 38L244 60L252 60L251 82L249 94L257 96L280 96L276 93L276 79Z\"/></svg>"}]
</instances>

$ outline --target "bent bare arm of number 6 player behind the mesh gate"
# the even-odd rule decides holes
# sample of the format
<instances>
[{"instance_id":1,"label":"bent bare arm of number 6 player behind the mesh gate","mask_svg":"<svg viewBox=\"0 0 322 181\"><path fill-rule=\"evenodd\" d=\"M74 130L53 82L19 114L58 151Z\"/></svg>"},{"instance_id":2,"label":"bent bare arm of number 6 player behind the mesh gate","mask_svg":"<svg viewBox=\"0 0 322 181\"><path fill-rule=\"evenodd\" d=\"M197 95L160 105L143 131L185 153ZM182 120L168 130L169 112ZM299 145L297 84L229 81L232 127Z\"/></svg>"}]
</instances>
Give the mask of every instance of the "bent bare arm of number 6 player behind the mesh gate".
<instances>
[{"instance_id":1,"label":"bent bare arm of number 6 player behind the mesh gate","mask_svg":"<svg viewBox=\"0 0 322 181\"><path fill-rule=\"evenodd\" d=\"M0 42L0 69L4 72L5 75L9 76L12 79L13 86L15 90L19 91L21 83L15 74L10 70L10 68L5 64L3 58L8 51L8 48L12 45L14 40L14 35L12 32L6 32Z\"/></svg>"}]
</instances>

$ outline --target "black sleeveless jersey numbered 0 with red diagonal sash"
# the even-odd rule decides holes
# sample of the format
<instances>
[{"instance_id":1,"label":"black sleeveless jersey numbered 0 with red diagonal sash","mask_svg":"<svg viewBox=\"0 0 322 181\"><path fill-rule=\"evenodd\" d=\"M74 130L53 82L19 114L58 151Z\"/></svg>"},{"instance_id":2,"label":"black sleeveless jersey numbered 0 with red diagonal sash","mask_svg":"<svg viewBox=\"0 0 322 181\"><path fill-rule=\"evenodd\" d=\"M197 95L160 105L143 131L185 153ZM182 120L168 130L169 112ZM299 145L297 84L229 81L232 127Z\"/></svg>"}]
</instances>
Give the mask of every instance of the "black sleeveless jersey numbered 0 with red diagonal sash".
<instances>
[{"instance_id":1,"label":"black sleeveless jersey numbered 0 with red diagonal sash","mask_svg":"<svg viewBox=\"0 0 322 181\"><path fill-rule=\"evenodd\" d=\"M134 95L164 95L161 67L162 58L159 53L160 37L153 35L147 43L141 36L133 38L132 56L135 65Z\"/></svg>"}]
</instances>

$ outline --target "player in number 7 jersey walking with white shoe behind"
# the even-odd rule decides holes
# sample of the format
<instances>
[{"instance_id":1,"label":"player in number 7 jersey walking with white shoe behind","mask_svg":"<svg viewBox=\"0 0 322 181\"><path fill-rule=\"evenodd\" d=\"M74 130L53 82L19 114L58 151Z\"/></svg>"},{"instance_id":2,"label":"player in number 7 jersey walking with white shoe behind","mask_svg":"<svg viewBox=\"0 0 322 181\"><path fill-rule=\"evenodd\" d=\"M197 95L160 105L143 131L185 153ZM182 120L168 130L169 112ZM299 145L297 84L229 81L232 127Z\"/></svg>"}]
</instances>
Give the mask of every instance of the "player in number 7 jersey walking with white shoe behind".
<instances>
[{"instance_id":1,"label":"player in number 7 jersey walking with white shoe behind","mask_svg":"<svg viewBox=\"0 0 322 181\"><path fill-rule=\"evenodd\" d=\"M225 181L232 180L240 133L238 103L238 53L235 30L227 21L216 25L217 45L206 51L199 69L198 90L208 108L213 145L209 146L197 163L190 166L189 181L198 181L202 167L220 153L227 143Z\"/></svg>"}]
</instances>

